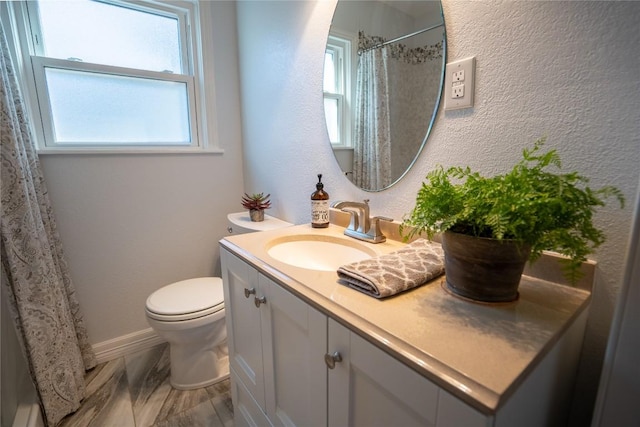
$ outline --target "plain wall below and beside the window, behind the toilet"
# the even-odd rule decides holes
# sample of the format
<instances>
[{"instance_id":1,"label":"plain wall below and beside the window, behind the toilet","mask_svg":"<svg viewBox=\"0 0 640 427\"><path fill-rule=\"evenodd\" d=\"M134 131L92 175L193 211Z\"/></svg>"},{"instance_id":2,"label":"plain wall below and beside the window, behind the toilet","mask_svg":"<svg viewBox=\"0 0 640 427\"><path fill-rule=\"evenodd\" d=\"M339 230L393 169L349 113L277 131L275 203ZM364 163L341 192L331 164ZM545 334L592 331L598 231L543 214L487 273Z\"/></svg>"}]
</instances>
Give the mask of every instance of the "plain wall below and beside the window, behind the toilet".
<instances>
[{"instance_id":1,"label":"plain wall below and beside the window, behind the toilet","mask_svg":"<svg viewBox=\"0 0 640 427\"><path fill-rule=\"evenodd\" d=\"M219 275L218 240L243 191L236 17L213 3L217 123L224 154L40 156L91 343L149 327L146 298Z\"/></svg>"}]
</instances>

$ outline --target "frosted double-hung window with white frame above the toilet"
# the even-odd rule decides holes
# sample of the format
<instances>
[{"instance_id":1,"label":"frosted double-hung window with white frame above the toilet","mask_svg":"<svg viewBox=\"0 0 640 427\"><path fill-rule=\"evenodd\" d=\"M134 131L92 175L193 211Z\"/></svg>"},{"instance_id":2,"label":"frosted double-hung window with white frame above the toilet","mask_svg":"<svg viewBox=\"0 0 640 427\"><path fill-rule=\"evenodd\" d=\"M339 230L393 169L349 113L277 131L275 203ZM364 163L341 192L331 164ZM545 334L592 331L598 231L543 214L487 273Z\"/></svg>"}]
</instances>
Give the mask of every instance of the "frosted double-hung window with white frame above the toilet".
<instances>
[{"instance_id":1,"label":"frosted double-hung window with white frame above the toilet","mask_svg":"<svg viewBox=\"0 0 640 427\"><path fill-rule=\"evenodd\" d=\"M40 148L207 149L197 8L190 1L26 2L22 46Z\"/></svg>"}]
</instances>

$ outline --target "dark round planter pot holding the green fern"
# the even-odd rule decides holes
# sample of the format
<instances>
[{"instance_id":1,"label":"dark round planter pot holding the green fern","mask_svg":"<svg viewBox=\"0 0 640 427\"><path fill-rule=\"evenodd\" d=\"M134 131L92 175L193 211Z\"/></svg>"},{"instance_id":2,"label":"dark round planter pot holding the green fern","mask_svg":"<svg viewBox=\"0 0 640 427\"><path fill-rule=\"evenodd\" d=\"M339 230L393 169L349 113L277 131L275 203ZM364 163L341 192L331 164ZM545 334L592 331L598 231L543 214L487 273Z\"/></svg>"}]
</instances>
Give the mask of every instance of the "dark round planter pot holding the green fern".
<instances>
[{"instance_id":1,"label":"dark round planter pot holding the green fern","mask_svg":"<svg viewBox=\"0 0 640 427\"><path fill-rule=\"evenodd\" d=\"M518 299L530 246L446 231L442 248L446 285L451 292L482 302Z\"/></svg>"}]
</instances>

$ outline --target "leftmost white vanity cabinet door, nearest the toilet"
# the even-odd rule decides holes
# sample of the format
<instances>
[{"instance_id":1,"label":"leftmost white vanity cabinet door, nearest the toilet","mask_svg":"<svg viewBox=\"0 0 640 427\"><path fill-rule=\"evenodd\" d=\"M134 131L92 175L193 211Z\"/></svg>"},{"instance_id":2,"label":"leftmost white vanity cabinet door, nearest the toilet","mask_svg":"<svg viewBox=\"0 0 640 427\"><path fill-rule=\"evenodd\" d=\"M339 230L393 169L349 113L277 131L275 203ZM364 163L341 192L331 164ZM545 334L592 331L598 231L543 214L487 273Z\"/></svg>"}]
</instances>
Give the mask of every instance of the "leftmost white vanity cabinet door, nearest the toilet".
<instances>
[{"instance_id":1,"label":"leftmost white vanity cabinet door, nearest the toilet","mask_svg":"<svg viewBox=\"0 0 640 427\"><path fill-rule=\"evenodd\" d=\"M258 272L254 268L224 248L220 251L220 258L229 364L235 374L232 380L242 381L265 411L261 310L255 305L256 295L262 296L264 292L260 289Z\"/></svg>"}]
</instances>

